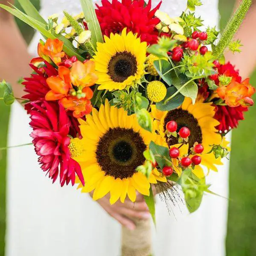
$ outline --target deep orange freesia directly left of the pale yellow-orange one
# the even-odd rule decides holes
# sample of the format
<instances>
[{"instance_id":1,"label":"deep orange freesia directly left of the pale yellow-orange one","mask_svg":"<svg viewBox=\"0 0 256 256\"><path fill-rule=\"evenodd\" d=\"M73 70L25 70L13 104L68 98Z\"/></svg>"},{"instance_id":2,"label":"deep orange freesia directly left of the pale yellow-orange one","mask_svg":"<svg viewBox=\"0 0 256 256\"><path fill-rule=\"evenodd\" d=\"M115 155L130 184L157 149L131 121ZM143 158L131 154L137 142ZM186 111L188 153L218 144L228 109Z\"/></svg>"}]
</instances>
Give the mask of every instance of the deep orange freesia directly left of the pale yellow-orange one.
<instances>
[{"instance_id":1,"label":"deep orange freesia directly left of the pale yellow-orange one","mask_svg":"<svg viewBox=\"0 0 256 256\"><path fill-rule=\"evenodd\" d=\"M51 90L46 94L46 100L58 100L67 96L72 84L70 80L70 70L67 67L58 68L58 76L51 76L46 79Z\"/></svg>"}]
</instances>

